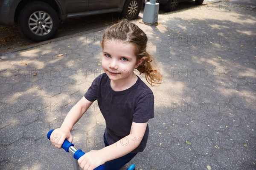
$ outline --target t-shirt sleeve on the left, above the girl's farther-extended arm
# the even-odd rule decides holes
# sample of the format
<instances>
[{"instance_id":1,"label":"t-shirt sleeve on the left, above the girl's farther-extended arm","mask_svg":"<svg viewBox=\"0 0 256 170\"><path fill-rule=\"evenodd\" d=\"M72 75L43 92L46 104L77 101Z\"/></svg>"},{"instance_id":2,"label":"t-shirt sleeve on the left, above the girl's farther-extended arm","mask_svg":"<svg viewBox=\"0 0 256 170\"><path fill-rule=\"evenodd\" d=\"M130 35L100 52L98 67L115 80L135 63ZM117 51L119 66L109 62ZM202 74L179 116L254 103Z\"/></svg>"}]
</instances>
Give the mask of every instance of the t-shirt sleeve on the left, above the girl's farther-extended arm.
<instances>
[{"instance_id":1,"label":"t-shirt sleeve on the left, above the girl's farther-extended arm","mask_svg":"<svg viewBox=\"0 0 256 170\"><path fill-rule=\"evenodd\" d=\"M89 87L89 89L87 90L87 92L84 94L84 97L88 100L88 101L96 101L97 100L97 93L98 93L98 87L99 87L99 82L101 80L102 75L99 75L98 77L96 77L93 80L93 83L91 84L91 86Z\"/></svg>"}]
</instances>

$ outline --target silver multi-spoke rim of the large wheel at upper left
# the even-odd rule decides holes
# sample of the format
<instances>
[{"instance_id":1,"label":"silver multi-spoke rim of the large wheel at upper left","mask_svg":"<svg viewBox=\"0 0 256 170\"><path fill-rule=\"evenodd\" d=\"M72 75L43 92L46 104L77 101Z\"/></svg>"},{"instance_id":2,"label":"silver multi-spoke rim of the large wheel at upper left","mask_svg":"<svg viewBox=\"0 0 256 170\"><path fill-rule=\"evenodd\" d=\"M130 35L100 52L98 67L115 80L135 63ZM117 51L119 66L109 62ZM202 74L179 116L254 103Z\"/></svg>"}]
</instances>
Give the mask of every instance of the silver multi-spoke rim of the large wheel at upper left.
<instances>
[{"instance_id":1,"label":"silver multi-spoke rim of the large wheel at upper left","mask_svg":"<svg viewBox=\"0 0 256 170\"><path fill-rule=\"evenodd\" d=\"M29 29L35 35L44 36L49 34L52 26L52 17L47 12L37 11L29 17Z\"/></svg>"}]
</instances>

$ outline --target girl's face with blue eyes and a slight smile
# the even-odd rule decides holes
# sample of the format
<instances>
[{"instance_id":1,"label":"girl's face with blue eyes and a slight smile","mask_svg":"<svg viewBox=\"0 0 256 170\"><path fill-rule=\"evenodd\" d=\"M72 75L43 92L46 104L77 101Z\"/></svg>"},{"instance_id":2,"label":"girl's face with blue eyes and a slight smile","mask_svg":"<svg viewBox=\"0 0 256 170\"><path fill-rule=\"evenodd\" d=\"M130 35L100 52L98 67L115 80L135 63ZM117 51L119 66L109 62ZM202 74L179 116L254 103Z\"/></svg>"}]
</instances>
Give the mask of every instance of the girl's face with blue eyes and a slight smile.
<instances>
[{"instance_id":1,"label":"girl's face with blue eyes and a slight smile","mask_svg":"<svg viewBox=\"0 0 256 170\"><path fill-rule=\"evenodd\" d=\"M131 43L112 39L103 44L102 68L112 81L131 78L137 68L137 57ZM130 79L131 80L131 79Z\"/></svg>"}]
</instances>

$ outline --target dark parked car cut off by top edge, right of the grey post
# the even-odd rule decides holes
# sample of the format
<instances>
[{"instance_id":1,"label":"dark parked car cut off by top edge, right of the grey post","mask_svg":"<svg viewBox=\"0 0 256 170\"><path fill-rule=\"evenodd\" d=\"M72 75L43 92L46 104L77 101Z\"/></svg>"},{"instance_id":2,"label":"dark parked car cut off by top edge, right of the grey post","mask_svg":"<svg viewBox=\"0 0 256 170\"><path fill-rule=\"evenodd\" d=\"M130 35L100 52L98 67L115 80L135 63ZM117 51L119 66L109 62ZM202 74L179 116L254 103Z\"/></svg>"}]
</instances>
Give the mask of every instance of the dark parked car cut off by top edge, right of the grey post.
<instances>
[{"instance_id":1,"label":"dark parked car cut off by top edge, right of the grey post","mask_svg":"<svg viewBox=\"0 0 256 170\"><path fill-rule=\"evenodd\" d=\"M184 1L188 1L188 0L157 0L157 2L163 6L163 10L167 12L174 11L177 8L179 2L184 2ZM204 0L195 0L196 5L201 5L203 2Z\"/></svg>"}]
</instances>

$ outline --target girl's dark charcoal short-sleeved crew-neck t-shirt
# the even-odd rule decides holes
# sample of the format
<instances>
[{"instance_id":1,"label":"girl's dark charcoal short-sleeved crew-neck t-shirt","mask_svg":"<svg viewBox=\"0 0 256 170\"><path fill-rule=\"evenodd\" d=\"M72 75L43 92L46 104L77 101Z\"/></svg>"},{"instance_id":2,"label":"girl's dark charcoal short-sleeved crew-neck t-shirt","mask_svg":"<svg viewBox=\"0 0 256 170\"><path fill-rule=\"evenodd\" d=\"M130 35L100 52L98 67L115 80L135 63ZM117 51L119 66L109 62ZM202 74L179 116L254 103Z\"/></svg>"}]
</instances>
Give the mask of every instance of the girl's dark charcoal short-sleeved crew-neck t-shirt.
<instances>
[{"instance_id":1,"label":"girl's dark charcoal short-sleeved crew-neck t-shirt","mask_svg":"<svg viewBox=\"0 0 256 170\"><path fill-rule=\"evenodd\" d=\"M130 134L131 124L145 123L154 118L154 95L151 89L138 77L136 83L123 91L114 91L110 86L110 79L105 73L99 75L89 87L84 97L88 101L98 100L99 109L106 121L105 136L108 144ZM148 126L143 139L127 138L121 140L124 146L128 142L138 142L140 145L131 153L142 152L148 140Z\"/></svg>"}]
</instances>

